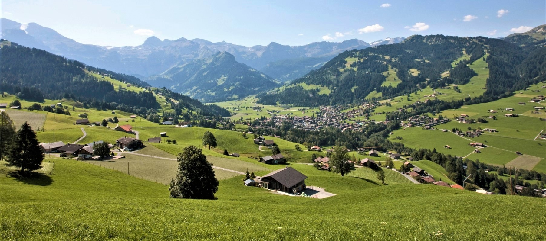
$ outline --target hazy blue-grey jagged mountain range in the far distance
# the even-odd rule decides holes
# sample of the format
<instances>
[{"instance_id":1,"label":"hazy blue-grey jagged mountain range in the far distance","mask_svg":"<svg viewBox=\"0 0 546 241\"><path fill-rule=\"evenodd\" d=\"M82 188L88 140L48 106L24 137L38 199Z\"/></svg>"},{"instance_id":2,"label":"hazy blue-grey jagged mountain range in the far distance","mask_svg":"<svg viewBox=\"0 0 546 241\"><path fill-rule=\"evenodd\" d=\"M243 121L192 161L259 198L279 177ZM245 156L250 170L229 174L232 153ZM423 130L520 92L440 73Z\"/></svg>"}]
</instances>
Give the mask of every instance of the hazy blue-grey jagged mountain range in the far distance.
<instances>
[{"instance_id":1,"label":"hazy blue-grey jagged mountain range in the far distance","mask_svg":"<svg viewBox=\"0 0 546 241\"><path fill-rule=\"evenodd\" d=\"M215 70L215 75L200 77L174 73L175 71L187 71L189 67L197 63L210 63L211 59L214 59L211 57L217 56L218 52L227 52L230 56L233 56L233 58L229 58L229 62L233 60L250 67L243 68L237 65L240 67L237 68L238 70L247 69L249 71L239 71L235 76L244 80L267 81L267 83L263 83L265 87L275 83L272 80L286 82L304 76L309 71L320 68L324 63L343 51L400 43L405 39L387 38L374 41L371 44L358 39L350 39L341 43L322 41L302 46L281 45L271 42L266 46L247 47L226 43L225 41L212 43L204 39L161 40L157 37L150 37L139 46L112 47L81 44L64 37L54 29L40 26L37 23L22 24L8 19L1 19L0 25L0 38L8 39L20 45L46 50L98 68L134 75L149 81L153 86L167 86L181 93L189 93L195 89L209 86L209 84L205 83L217 81L218 78L222 77L222 74L224 77L227 76L227 73L234 75L234 72L230 69ZM224 62L224 64L213 64L211 66L222 68L224 66L233 67L234 65L236 64L225 64ZM217 79L206 79L207 76ZM204 83L203 86L200 85L200 82ZM228 81L224 84L227 83L231 82ZM238 83L240 85L249 84L245 82ZM230 89L230 87L224 87ZM217 91L222 93L209 93L207 96L226 97L229 91L224 92L221 91L222 89L224 88L218 88ZM248 94L255 94L260 89L262 88L250 88ZM192 92L192 95L197 98L201 98L199 95L202 94Z\"/></svg>"}]
</instances>

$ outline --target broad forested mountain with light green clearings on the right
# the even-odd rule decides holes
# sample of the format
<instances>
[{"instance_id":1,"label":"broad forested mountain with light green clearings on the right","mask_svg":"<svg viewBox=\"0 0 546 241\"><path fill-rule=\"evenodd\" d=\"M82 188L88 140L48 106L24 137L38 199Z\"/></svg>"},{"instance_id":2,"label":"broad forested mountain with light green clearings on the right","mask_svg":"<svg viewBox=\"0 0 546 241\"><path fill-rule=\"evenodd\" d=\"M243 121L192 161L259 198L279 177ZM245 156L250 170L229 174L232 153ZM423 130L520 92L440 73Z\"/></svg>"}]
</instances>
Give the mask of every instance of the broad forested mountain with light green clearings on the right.
<instances>
[{"instance_id":1,"label":"broad forested mountain with light green clearings on the right","mask_svg":"<svg viewBox=\"0 0 546 241\"><path fill-rule=\"evenodd\" d=\"M457 85L465 85L477 75L469 65L483 58L489 74L484 76L482 98L503 97L544 76L543 71L530 67L544 65L541 48L485 37L413 35L401 44L343 52L322 68L294 80L287 86L290 88L263 95L259 103L335 105L388 99L425 88L457 91ZM310 85L321 88L304 88Z\"/></svg>"}]
</instances>

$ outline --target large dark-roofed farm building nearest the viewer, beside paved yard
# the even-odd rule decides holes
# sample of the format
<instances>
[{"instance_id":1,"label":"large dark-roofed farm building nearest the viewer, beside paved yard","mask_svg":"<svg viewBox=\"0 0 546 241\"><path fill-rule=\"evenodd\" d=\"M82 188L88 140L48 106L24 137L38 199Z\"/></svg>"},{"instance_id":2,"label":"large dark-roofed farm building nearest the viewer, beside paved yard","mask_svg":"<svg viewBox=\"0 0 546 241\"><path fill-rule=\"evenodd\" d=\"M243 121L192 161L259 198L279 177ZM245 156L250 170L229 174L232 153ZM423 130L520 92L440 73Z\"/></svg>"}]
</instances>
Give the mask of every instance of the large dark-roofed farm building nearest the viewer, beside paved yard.
<instances>
[{"instance_id":1,"label":"large dark-roofed farm building nearest the viewer, beside paved yard","mask_svg":"<svg viewBox=\"0 0 546 241\"><path fill-rule=\"evenodd\" d=\"M286 167L260 178L263 188L296 193L305 189L307 176L292 167Z\"/></svg>"}]
</instances>

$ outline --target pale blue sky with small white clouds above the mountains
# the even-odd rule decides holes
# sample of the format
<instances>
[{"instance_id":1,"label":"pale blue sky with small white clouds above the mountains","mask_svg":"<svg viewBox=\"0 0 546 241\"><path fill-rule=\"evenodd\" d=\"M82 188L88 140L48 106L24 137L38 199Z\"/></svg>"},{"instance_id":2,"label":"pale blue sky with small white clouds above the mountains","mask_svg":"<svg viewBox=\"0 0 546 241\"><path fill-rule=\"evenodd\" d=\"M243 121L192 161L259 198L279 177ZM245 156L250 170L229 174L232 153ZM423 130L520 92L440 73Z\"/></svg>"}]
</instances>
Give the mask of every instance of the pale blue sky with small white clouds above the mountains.
<instances>
[{"instance_id":1,"label":"pale blue sky with small white clouds above the mountains","mask_svg":"<svg viewBox=\"0 0 546 241\"><path fill-rule=\"evenodd\" d=\"M546 23L546 1L2 0L2 17L84 44L201 38L253 46L413 34L500 37Z\"/></svg>"}]
</instances>

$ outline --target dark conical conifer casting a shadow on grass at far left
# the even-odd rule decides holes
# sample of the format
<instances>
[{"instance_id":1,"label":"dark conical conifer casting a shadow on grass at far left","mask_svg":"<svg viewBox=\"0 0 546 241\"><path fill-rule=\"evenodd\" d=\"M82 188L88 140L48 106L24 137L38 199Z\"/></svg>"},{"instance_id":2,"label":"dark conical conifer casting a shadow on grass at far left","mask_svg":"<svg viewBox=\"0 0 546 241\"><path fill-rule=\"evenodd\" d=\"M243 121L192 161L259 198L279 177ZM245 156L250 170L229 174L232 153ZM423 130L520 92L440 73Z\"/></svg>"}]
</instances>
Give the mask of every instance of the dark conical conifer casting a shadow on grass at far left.
<instances>
[{"instance_id":1,"label":"dark conical conifer casting a shadow on grass at far left","mask_svg":"<svg viewBox=\"0 0 546 241\"><path fill-rule=\"evenodd\" d=\"M7 161L12 166L20 167L24 172L38 170L42 160L44 160L44 153L38 146L36 134L25 122L13 137Z\"/></svg>"}]
</instances>

